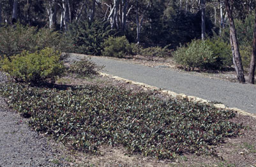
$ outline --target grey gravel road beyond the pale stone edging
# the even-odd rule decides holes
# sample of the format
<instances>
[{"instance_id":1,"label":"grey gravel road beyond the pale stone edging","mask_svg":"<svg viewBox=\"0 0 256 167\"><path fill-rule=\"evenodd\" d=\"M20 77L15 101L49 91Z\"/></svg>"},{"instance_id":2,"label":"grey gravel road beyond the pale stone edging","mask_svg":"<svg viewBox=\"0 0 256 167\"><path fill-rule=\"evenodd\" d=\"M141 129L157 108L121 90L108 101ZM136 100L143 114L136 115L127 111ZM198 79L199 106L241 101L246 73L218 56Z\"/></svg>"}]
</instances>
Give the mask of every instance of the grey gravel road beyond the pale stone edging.
<instances>
[{"instance_id":1,"label":"grey gravel road beyond the pale stone edging","mask_svg":"<svg viewBox=\"0 0 256 167\"><path fill-rule=\"evenodd\" d=\"M103 72L146 83L164 90L184 93L215 102L222 102L227 107L237 107L256 114L256 86L230 83L220 79L195 76L176 70L146 67L129 62L103 57L91 57L98 65L105 65Z\"/></svg>"}]
</instances>

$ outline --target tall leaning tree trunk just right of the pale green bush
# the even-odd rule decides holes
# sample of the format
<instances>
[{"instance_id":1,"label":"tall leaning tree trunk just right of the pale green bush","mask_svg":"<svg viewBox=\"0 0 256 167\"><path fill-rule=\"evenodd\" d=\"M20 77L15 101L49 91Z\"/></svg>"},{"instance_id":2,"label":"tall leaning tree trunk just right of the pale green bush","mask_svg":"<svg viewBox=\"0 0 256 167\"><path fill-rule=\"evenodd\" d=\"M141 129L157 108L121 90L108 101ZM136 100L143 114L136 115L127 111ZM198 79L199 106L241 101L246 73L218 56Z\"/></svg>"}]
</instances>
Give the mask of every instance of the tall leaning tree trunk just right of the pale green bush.
<instances>
[{"instance_id":1,"label":"tall leaning tree trunk just right of the pale green bush","mask_svg":"<svg viewBox=\"0 0 256 167\"><path fill-rule=\"evenodd\" d=\"M229 17L230 44L234 47L233 63L235 67L237 67L237 79L239 80L239 83L245 83L245 75L237 42L236 28L234 25L234 19L232 17L232 8L230 8L229 0L225 0L225 6L227 10L227 15Z\"/></svg>"}]
</instances>

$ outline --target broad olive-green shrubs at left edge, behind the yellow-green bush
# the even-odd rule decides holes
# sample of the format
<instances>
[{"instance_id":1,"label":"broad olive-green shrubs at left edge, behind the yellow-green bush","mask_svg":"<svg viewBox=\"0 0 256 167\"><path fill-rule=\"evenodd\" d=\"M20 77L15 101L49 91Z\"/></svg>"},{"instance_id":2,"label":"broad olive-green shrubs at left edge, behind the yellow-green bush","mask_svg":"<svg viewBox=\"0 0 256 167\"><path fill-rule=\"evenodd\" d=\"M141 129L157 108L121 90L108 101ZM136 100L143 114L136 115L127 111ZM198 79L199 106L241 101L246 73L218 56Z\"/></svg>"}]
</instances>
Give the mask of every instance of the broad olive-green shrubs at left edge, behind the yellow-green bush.
<instances>
[{"instance_id":1,"label":"broad olive-green shrubs at left edge, behind the yellow-green bush","mask_svg":"<svg viewBox=\"0 0 256 167\"><path fill-rule=\"evenodd\" d=\"M43 48L53 48L58 51L70 51L72 45L59 32L36 27L29 27L16 23L0 27L0 55L11 57L26 50L33 53Z\"/></svg>"}]
</instances>

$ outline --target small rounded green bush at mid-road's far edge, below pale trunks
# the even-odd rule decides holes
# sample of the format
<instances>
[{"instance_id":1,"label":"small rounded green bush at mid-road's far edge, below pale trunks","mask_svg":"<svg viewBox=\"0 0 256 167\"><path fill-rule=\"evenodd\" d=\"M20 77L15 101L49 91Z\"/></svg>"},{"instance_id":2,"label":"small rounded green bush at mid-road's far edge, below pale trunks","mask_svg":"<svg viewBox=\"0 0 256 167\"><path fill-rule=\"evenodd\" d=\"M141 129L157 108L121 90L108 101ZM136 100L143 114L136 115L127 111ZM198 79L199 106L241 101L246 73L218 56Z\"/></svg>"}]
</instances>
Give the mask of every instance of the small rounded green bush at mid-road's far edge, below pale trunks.
<instances>
[{"instance_id":1,"label":"small rounded green bush at mid-road's far edge, below pale trunks","mask_svg":"<svg viewBox=\"0 0 256 167\"><path fill-rule=\"evenodd\" d=\"M103 43L104 51L103 56L105 57L118 57L122 58L124 55L132 53L132 47L129 44L125 36L122 37L112 37L105 40Z\"/></svg>"}]
</instances>

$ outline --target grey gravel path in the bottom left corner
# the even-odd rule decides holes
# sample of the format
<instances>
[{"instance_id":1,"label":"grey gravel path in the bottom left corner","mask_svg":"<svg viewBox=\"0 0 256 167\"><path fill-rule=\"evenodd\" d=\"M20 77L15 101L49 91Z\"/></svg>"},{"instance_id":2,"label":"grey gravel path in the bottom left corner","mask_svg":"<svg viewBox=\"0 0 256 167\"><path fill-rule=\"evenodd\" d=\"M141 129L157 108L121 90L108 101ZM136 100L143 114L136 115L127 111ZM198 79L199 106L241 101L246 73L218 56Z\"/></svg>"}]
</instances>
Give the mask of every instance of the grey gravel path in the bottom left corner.
<instances>
[{"instance_id":1,"label":"grey gravel path in the bottom left corner","mask_svg":"<svg viewBox=\"0 0 256 167\"><path fill-rule=\"evenodd\" d=\"M0 82L5 80L0 72ZM31 130L26 119L7 109L0 97L0 166L69 166L60 145Z\"/></svg>"}]
</instances>

